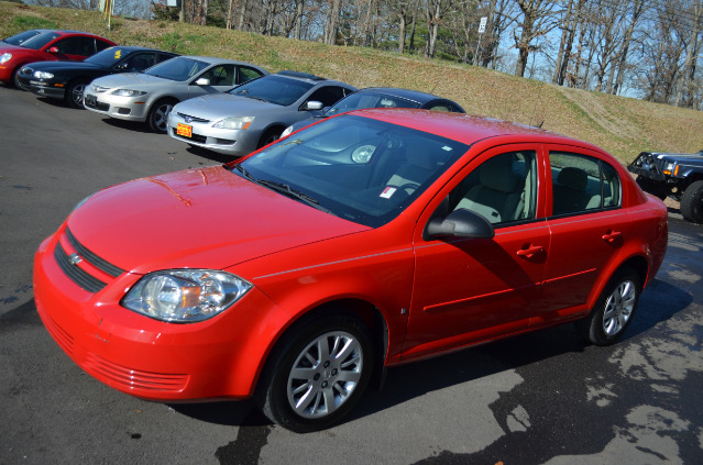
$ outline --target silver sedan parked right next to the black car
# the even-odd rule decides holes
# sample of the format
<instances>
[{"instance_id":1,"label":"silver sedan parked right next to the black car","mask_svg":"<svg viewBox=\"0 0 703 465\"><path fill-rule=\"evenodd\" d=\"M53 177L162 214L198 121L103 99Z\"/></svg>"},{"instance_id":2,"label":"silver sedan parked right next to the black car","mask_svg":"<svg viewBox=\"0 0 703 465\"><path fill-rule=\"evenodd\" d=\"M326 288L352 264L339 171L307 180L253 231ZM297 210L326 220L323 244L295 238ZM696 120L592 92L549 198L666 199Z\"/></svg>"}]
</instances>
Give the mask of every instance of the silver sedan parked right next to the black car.
<instances>
[{"instance_id":1,"label":"silver sedan parked right next to the black car","mask_svg":"<svg viewBox=\"0 0 703 465\"><path fill-rule=\"evenodd\" d=\"M171 109L182 100L220 93L267 75L249 63L208 56L180 56L149 68L95 79L84 95L84 107L96 113L149 123L166 132Z\"/></svg>"}]
</instances>

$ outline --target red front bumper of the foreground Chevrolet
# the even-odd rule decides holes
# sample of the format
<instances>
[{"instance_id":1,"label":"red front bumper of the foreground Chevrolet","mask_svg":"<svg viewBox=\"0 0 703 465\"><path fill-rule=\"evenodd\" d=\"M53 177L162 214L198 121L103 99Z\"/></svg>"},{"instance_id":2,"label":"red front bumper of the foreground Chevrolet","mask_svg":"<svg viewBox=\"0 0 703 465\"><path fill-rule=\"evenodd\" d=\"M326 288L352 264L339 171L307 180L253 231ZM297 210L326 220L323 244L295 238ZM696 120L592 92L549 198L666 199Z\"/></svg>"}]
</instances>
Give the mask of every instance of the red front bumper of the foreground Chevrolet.
<instances>
[{"instance_id":1,"label":"red front bumper of the foreground Chevrolet","mask_svg":"<svg viewBox=\"0 0 703 465\"><path fill-rule=\"evenodd\" d=\"M271 343L261 331L262 317L272 309L265 296L254 288L210 320L166 323L120 306L139 275L125 272L110 281L85 263L89 255L79 265L62 268L57 245L68 255L85 253L62 230L42 243L34 261L36 309L52 337L85 372L114 389L150 400L251 396ZM85 268L109 283L86 290L85 284L67 275L66 266Z\"/></svg>"}]
</instances>

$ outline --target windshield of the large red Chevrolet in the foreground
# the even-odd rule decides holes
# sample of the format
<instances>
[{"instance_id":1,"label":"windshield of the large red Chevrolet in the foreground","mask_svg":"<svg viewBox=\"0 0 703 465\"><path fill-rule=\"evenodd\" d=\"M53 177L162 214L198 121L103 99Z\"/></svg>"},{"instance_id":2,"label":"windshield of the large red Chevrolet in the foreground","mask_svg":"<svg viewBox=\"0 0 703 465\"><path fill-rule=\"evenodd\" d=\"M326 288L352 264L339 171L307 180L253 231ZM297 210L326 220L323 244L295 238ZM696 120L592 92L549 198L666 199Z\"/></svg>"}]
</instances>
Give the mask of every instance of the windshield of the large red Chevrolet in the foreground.
<instances>
[{"instance_id":1,"label":"windshield of the large red Chevrolet in the foreground","mask_svg":"<svg viewBox=\"0 0 703 465\"><path fill-rule=\"evenodd\" d=\"M468 148L405 126L341 115L231 168L320 210L377 228L396 218Z\"/></svg>"}]
</instances>

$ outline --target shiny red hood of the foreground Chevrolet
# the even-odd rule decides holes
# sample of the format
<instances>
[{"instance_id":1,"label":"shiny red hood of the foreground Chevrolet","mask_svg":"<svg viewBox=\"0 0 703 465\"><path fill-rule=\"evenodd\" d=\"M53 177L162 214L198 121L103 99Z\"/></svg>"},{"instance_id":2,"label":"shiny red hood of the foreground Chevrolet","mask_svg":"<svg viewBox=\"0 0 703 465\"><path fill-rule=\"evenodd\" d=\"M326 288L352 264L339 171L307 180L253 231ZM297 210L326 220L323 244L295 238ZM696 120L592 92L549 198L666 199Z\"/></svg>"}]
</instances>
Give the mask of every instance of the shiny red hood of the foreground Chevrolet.
<instances>
[{"instance_id":1,"label":"shiny red hood of the foreground Chevrolet","mask_svg":"<svg viewBox=\"0 0 703 465\"><path fill-rule=\"evenodd\" d=\"M224 269L365 231L224 167L153 176L101 190L68 219L73 235L118 267Z\"/></svg>"}]
</instances>

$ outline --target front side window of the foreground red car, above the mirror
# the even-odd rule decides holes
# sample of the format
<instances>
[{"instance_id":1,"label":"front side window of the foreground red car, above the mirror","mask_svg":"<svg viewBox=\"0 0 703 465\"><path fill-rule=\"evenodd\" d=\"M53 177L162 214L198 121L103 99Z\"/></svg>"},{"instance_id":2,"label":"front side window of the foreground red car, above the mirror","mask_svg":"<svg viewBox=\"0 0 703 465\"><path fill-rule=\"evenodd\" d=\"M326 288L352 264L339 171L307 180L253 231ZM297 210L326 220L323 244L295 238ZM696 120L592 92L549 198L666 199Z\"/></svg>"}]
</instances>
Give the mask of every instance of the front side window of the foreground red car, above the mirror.
<instances>
[{"instance_id":1,"label":"front side window of the foreground red car, above the mirror","mask_svg":"<svg viewBox=\"0 0 703 465\"><path fill-rule=\"evenodd\" d=\"M535 219L535 152L509 152L487 159L450 192L449 208L471 210L494 225Z\"/></svg>"}]
</instances>

